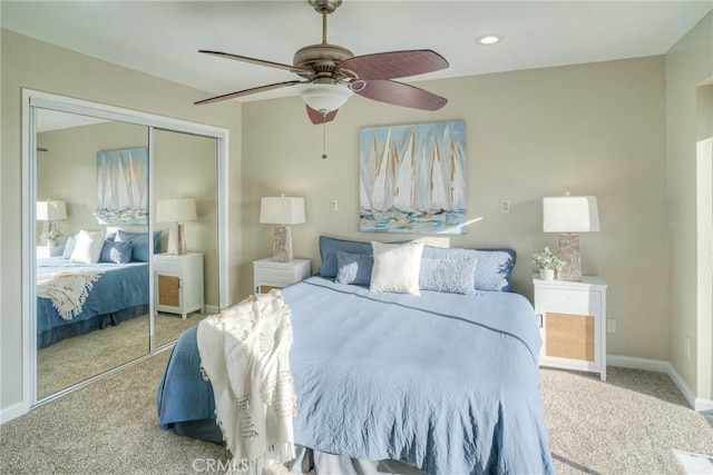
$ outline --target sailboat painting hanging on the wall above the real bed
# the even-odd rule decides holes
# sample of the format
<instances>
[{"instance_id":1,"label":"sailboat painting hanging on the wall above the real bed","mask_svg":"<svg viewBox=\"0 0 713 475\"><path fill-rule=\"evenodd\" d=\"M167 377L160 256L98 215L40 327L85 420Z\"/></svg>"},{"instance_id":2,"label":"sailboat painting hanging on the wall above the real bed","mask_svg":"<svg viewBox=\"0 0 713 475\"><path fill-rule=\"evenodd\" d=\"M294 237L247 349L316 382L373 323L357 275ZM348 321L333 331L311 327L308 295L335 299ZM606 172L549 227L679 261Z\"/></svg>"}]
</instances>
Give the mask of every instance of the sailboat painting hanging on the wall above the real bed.
<instances>
[{"instance_id":1,"label":"sailboat painting hanging on the wall above the real bed","mask_svg":"<svg viewBox=\"0 0 713 475\"><path fill-rule=\"evenodd\" d=\"M360 230L466 234L462 120L359 130Z\"/></svg>"}]
</instances>

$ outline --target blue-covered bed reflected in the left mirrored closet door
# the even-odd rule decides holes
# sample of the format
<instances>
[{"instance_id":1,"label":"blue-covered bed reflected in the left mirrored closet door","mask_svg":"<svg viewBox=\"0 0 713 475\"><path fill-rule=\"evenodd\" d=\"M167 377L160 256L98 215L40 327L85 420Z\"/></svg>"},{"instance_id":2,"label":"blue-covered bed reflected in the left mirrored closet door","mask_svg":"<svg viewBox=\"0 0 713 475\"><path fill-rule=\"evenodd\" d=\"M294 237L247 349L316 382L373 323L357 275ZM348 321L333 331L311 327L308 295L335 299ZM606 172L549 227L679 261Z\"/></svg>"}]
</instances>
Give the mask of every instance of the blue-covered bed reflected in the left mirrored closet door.
<instances>
[{"instance_id":1,"label":"blue-covered bed reflected in the left mirrored closet door","mask_svg":"<svg viewBox=\"0 0 713 475\"><path fill-rule=\"evenodd\" d=\"M150 280L147 259L130 260L129 257L127 260L123 264L80 264L71 261L68 256L37 259L37 347L45 348L65 338L148 314ZM52 299L43 291L51 276L60 273L96 276L81 311L70 315L69 319L60 316Z\"/></svg>"}]
</instances>

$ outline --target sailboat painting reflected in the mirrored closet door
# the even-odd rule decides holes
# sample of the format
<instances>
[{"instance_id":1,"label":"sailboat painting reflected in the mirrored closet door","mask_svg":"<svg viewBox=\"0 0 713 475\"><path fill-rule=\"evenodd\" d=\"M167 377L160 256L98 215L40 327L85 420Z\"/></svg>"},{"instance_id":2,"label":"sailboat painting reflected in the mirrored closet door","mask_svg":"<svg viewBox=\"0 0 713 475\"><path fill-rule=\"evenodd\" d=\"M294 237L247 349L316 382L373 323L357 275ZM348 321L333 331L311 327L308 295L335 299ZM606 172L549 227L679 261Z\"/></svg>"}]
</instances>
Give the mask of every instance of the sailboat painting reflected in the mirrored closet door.
<instances>
[{"instance_id":1,"label":"sailboat painting reflected in the mirrored closet door","mask_svg":"<svg viewBox=\"0 0 713 475\"><path fill-rule=\"evenodd\" d=\"M148 149L97 152L97 221L148 225Z\"/></svg>"}]
</instances>

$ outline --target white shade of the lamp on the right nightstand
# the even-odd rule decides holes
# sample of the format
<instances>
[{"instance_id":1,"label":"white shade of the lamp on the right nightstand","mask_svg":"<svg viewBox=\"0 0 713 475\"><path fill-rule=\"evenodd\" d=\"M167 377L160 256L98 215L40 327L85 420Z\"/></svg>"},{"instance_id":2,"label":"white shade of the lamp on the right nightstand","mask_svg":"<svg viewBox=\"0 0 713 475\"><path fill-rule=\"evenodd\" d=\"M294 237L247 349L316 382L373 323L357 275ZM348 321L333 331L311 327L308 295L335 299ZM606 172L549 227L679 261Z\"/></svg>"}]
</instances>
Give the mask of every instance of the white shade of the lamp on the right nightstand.
<instances>
[{"instance_id":1,"label":"white shade of the lamp on the right nightstand","mask_svg":"<svg viewBox=\"0 0 713 475\"><path fill-rule=\"evenodd\" d=\"M597 198L556 196L543 198L543 231L592 232L599 230Z\"/></svg>"}]
</instances>

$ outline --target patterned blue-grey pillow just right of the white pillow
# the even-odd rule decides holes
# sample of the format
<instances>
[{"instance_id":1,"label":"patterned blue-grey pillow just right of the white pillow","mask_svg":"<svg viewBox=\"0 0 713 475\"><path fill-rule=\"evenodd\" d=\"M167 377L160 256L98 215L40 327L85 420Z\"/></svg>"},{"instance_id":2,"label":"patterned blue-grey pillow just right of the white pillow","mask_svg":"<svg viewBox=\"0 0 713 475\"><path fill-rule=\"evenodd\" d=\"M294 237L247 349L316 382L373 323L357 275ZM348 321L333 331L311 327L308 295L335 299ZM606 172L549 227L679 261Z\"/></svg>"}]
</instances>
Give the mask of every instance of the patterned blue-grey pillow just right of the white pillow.
<instances>
[{"instance_id":1,"label":"patterned blue-grey pillow just right of the white pillow","mask_svg":"<svg viewBox=\"0 0 713 475\"><path fill-rule=\"evenodd\" d=\"M472 295L476 293L478 259L421 259L419 287L421 290Z\"/></svg>"}]
</instances>

